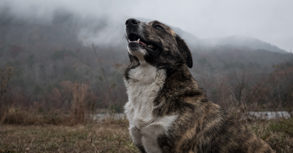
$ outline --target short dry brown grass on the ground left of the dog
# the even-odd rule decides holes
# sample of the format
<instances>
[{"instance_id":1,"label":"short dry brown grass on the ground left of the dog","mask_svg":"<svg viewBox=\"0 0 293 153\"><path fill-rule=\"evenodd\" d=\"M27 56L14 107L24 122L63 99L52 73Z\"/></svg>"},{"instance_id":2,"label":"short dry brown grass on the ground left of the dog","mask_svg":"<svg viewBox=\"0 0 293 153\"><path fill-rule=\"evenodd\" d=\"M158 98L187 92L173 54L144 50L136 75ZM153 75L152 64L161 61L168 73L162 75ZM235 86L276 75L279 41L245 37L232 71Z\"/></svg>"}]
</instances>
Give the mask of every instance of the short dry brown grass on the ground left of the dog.
<instances>
[{"instance_id":1,"label":"short dry brown grass on the ground left of the dog","mask_svg":"<svg viewBox=\"0 0 293 153\"><path fill-rule=\"evenodd\" d=\"M76 126L1 125L0 152L138 152L126 121Z\"/></svg>"}]
</instances>

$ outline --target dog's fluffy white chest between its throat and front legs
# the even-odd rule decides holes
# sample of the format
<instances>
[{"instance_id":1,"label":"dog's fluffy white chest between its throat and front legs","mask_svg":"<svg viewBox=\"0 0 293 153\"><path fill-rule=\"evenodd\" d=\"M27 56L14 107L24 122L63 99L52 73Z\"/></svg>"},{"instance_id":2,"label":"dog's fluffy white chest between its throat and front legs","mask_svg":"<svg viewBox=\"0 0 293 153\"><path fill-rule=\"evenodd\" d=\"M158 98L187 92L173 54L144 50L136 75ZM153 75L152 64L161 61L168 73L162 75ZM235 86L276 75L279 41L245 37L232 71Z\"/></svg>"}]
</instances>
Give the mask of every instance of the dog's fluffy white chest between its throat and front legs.
<instances>
[{"instance_id":1,"label":"dog's fluffy white chest between its throat and front legs","mask_svg":"<svg viewBox=\"0 0 293 153\"><path fill-rule=\"evenodd\" d=\"M137 126L138 120L150 124L156 120L152 115L154 99L164 85L166 73L145 64L130 70L128 75L130 79L124 81L128 94L125 114L130 126Z\"/></svg>"}]
</instances>

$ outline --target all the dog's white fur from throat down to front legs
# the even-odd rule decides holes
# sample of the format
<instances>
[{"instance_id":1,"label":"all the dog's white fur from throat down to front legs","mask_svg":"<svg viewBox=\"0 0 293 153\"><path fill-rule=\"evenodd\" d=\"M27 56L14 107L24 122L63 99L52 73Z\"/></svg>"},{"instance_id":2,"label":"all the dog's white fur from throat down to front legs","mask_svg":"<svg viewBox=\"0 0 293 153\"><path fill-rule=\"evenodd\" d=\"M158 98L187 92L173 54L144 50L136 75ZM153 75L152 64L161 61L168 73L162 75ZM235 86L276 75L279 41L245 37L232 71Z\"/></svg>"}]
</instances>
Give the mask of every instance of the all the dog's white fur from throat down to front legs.
<instances>
[{"instance_id":1,"label":"all the dog's white fur from throat down to front legs","mask_svg":"<svg viewBox=\"0 0 293 153\"><path fill-rule=\"evenodd\" d=\"M129 100L124 107L134 143L137 145L142 144L146 150L149 150L150 147L155 146L150 146L151 143L146 143L146 140L154 139L154 143L157 141L153 134L147 134L152 132L151 128L157 127L154 125L158 125L167 130L178 116L153 116L154 99L158 96L159 90L165 83L166 71L163 69L157 70L154 66L144 61L143 58L139 58L139 60L140 66L130 70L128 73L130 79L124 80ZM133 130L135 127L146 135L137 133L137 130ZM147 131L144 131L144 129Z\"/></svg>"}]
</instances>

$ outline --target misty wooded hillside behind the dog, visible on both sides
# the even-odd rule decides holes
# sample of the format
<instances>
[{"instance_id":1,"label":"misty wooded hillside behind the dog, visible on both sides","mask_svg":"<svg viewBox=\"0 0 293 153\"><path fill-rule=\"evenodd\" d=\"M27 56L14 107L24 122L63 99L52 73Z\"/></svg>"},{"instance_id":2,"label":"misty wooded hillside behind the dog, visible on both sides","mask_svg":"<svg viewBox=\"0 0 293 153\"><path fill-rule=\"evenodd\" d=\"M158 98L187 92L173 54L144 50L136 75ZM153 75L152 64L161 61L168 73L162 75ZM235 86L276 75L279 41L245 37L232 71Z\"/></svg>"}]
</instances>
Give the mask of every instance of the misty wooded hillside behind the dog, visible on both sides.
<instances>
[{"instance_id":1,"label":"misty wooded hillside behind the dog, visible on both sides","mask_svg":"<svg viewBox=\"0 0 293 153\"><path fill-rule=\"evenodd\" d=\"M251 104L263 109L268 103L263 96L271 96L277 104L266 109L287 109L285 101L292 98L287 92L292 91L291 54L260 40L223 38L207 43L174 29L187 39L193 54L191 71L213 102L228 106L234 95L235 104L249 99L247 108ZM106 17L59 10L46 21L1 10L1 104L45 111L85 101L82 107L91 110L121 112L127 100L122 72L128 63L123 30L124 22L109 23Z\"/></svg>"}]
</instances>

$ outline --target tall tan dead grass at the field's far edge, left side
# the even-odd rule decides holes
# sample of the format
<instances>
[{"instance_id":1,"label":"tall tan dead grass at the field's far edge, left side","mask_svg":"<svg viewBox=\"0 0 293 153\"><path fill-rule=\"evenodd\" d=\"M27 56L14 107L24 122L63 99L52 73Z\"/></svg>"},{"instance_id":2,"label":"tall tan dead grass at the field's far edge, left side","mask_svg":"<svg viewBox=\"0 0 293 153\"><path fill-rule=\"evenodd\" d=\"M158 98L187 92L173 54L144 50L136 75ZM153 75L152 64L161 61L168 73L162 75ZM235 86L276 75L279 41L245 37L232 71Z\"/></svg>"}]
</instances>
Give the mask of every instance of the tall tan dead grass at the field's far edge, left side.
<instances>
[{"instance_id":1,"label":"tall tan dead grass at the field's far edge, left side","mask_svg":"<svg viewBox=\"0 0 293 153\"><path fill-rule=\"evenodd\" d=\"M81 83L61 82L63 91L68 97L63 97L59 106L51 109L44 109L46 102L37 103L28 107L7 105L1 107L0 123L18 125L40 125L40 124L65 124L76 125L92 122L93 107L96 99L91 97L89 85ZM53 89L54 90L54 89ZM50 99L51 100L51 99ZM51 105L49 105L51 106Z\"/></svg>"}]
</instances>

